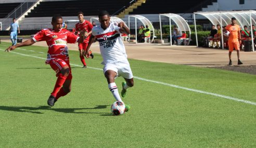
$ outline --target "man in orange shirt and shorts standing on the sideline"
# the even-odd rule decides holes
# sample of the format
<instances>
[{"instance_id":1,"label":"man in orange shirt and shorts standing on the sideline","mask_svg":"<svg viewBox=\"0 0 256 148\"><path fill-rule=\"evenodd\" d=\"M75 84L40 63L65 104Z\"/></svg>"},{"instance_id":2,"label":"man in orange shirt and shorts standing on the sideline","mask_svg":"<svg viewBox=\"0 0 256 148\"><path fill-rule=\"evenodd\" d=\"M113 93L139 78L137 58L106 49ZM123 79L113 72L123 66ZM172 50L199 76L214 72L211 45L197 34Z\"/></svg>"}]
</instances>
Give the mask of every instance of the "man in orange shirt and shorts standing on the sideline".
<instances>
[{"instance_id":1,"label":"man in orange shirt and shorts standing on the sideline","mask_svg":"<svg viewBox=\"0 0 256 148\"><path fill-rule=\"evenodd\" d=\"M228 56L229 56L229 63L228 65L232 65L231 60L231 53L233 52L233 49L235 48L237 51L237 59L238 59L238 65L242 64L242 62L239 59L239 50L240 50L240 44L241 44L241 33L240 33L240 26L236 24L236 18L231 19L231 24L227 25L225 28L227 31L230 32L228 37Z\"/></svg>"}]
</instances>

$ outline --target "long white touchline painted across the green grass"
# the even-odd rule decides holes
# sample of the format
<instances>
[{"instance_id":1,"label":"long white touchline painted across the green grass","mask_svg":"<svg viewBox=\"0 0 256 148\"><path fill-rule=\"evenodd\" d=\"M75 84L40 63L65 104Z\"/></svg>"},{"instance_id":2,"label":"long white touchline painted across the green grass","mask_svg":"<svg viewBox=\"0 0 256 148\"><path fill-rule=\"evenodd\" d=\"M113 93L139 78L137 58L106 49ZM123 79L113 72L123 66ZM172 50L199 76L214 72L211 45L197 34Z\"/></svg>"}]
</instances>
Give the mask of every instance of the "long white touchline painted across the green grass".
<instances>
[{"instance_id":1,"label":"long white touchline painted across the green grass","mask_svg":"<svg viewBox=\"0 0 256 148\"><path fill-rule=\"evenodd\" d=\"M4 51L3 49L0 49L0 50ZM11 51L11 53L16 53L16 54L22 55L22 56L27 56L27 57L33 57L33 58L38 58L38 59L46 60L45 58L42 58L42 57L25 55L23 53L18 53L18 52L14 52L14 51ZM70 65L82 66L82 65L78 65L78 64L72 64L72 63L70 63ZM92 67L87 67L87 68L102 71L102 69L99 69L99 68L92 68ZM159 82L159 81L156 81L156 80L145 79L145 78L141 78L141 77L137 77L137 76L134 76L134 78L139 79L139 80L144 80L146 82L162 84L162 85L165 85L165 86L170 86L170 87L179 88L179 89L183 89L183 90L203 93L203 94L206 94L206 95L211 95L211 96L215 96L215 97L220 97L220 98L224 98L224 99L229 99L229 100L234 100L234 101L238 101L238 102L244 102L244 103L247 103L247 104L256 105L256 103L252 102L252 101L242 100L242 99L238 99L238 98L234 98L234 97L230 97L230 96L219 95L217 93L212 93L212 92L207 92L207 91L202 91L202 90L197 90L197 89L191 89L191 88L182 87L182 86L178 86L178 85L174 85L174 84L168 84L168 83Z\"/></svg>"}]
</instances>

